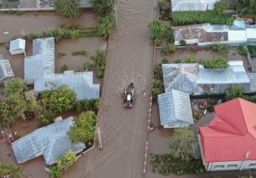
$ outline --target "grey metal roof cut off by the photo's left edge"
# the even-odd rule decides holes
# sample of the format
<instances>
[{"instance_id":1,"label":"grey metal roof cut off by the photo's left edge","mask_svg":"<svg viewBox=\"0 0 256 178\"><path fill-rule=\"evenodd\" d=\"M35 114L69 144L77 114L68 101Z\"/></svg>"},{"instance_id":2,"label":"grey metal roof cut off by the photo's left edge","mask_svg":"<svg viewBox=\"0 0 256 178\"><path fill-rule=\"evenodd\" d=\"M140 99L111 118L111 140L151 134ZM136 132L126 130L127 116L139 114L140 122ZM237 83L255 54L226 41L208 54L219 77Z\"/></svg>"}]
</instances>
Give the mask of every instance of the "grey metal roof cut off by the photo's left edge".
<instances>
[{"instance_id":1,"label":"grey metal roof cut off by the photo's left edge","mask_svg":"<svg viewBox=\"0 0 256 178\"><path fill-rule=\"evenodd\" d=\"M4 78L14 77L10 61L0 55L0 81Z\"/></svg>"}]
</instances>

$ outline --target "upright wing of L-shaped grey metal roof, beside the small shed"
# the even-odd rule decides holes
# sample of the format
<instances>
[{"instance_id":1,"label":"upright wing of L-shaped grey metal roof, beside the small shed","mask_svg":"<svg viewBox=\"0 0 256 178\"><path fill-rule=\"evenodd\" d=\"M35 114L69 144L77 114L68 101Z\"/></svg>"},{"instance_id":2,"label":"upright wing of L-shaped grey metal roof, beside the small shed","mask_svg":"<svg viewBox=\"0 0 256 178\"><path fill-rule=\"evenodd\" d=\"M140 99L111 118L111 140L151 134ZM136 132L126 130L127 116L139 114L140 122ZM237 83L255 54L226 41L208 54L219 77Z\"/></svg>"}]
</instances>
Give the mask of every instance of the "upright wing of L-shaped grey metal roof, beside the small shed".
<instances>
[{"instance_id":1,"label":"upright wing of L-shaped grey metal roof, beside the small shed","mask_svg":"<svg viewBox=\"0 0 256 178\"><path fill-rule=\"evenodd\" d=\"M24 79L33 83L37 78L54 74L54 37L33 40L33 56L24 59Z\"/></svg>"}]
</instances>

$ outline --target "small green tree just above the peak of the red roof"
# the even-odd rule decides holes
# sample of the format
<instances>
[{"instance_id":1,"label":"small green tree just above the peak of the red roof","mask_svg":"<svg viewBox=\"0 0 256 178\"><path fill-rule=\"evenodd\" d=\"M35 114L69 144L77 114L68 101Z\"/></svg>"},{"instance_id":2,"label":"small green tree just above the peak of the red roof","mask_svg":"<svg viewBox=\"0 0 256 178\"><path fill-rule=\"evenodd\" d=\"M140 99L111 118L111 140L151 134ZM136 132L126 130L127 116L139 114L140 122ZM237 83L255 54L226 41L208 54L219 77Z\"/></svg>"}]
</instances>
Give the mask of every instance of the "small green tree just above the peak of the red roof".
<instances>
[{"instance_id":1,"label":"small green tree just above the peak of the red roof","mask_svg":"<svg viewBox=\"0 0 256 178\"><path fill-rule=\"evenodd\" d=\"M245 89L241 85L232 85L228 87L225 94L226 100L233 100L238 97L243 98L245 97Z\"/></svg>"}]
</instances>

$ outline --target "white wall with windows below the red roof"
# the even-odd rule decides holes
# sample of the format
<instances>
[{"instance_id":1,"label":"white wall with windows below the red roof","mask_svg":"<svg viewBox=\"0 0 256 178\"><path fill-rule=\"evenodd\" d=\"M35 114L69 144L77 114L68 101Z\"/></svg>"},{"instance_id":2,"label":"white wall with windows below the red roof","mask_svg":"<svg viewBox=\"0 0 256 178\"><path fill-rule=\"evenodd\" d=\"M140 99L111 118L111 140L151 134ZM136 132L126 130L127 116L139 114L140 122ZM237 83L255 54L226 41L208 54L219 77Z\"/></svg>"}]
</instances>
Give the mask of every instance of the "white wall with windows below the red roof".
<instances>
[{"instance_id":1,"label":"white wall with windows below the red roof","mask_svg":"<svg viewBox=\"0 0 256 178\"><path fill-rule=\"evenodd\" d=\"M256 160L210 162L206 165L208 172L215 171L241 171L256 168Z\"/></svg>"}]
</instances>

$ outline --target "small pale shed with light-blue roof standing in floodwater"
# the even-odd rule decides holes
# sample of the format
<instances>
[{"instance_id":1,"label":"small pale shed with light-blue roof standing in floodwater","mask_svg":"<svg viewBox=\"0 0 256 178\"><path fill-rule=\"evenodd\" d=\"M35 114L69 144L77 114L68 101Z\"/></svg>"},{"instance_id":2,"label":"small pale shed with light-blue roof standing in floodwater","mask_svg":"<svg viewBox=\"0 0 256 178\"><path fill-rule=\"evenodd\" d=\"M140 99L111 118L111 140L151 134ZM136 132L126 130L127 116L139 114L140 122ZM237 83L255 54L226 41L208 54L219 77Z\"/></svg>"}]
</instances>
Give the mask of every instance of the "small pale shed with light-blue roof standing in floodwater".
<instances>
[{"instance_id":1,"label":"small pale shed with light-blue roof standing in floodwater","mask_svg":"<svg viewBox=\"0 0 256 178\"><path fill-rule=\"evenodd\" d=\"M25 53L26 40L18 38L16 40L11 40L10 42L10 53L11 55Z\"/></svg>"}]
</instances>

